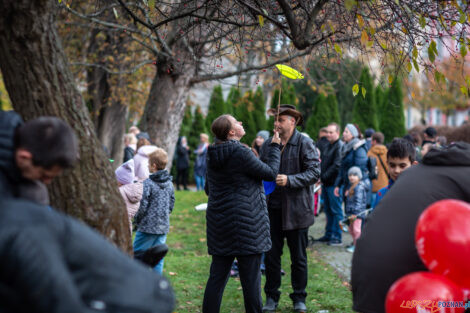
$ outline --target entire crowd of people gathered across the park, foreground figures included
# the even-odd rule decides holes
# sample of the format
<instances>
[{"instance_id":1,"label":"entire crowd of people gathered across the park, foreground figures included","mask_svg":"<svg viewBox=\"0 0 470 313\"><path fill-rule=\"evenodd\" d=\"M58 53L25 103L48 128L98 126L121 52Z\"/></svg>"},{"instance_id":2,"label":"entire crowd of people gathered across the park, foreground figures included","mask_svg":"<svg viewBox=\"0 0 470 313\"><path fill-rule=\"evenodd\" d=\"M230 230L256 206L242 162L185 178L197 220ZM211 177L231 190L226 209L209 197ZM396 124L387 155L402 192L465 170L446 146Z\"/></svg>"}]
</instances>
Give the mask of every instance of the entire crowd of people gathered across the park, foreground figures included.
<instances>
[{"instance_id":1,"label":"entire crowd of people gathered across the park, foreground figures included","mask_svg":"<svg viewBox=\"0 0 470 313\"><path fill-rule=\"evenodd\" d=\"M411 133L385 145L382 133L367 129L363 135L352 123L346 124L342 136L338 124L326 125L315 144L297 130L303 116L295 106L281 105L268 110L268 115L275 118L274 134L259 131L251 147L240 142L245 135L242 121L227 114L213 121L212 144L207 134L201 134L191 151L185 137L178 140L176 189L188 189L192 153L196 189L208 195L207 245L212 262L202 311L220 311L225 285L236 266L245 311L275 312L282 294L281 255L286 242L293 309L307 312L308 230L316 215L315 186L321 184L318 202L326 225L315 242L342 246L342 225L348 226L352 245L345 248L354 253L354 310L384 312L390 285L406 273L425 270L412 238L419 214L439 199L470 201L465 187L470 183L470 145L448 145L432 127L425 130L422 142ZM0 261L0 297L8 300L8 312L31 307L45 312L65 307L83 308L77 312L100 308L171 312L174 295L161 275L175 205L167 152L153 145L147 133L131 127L124 136L123 163L115 171L129 231L135 231L134 254L153 259L142 264L49 206L45 185L77 160L71 128L52 117L23 123L13 112L0 112L0 121L0 242L15 238L0 245L2 250L8 247ZM41 222L22 229L33 221ZM83 246L84 241L93 243ZM41 266L32 266L33 258L42 260ZM153 267L153 274L145 265ZM94 266L109 270L98 273ZM124 278L120 270L133 277ZM30 290L31 280L44 292ZM92 291L83 288L95 282L98 287ZM124 300L129 287L136 292ZM44 293L47 297L42 297Z\"/></svg>"}]
</instances>

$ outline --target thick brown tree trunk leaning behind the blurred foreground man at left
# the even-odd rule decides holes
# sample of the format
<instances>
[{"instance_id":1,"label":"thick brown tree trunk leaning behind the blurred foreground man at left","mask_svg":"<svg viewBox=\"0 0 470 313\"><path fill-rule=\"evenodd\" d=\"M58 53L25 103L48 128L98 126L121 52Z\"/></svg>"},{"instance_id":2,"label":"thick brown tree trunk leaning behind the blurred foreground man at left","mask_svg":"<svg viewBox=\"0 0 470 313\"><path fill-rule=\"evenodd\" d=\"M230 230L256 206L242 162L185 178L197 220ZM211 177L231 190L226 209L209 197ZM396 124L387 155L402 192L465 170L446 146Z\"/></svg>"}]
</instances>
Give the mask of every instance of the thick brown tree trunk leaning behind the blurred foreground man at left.
<instances>
[{"instance_id":1,"label":"thick brown tree trunk leaning behind the blurred foreground man at left","mask_svg":"<svg viewBox=\"0 0 470 313\"><path fill-rule=\"evenodd\" d=\"M0 67L17 112L58 116L75 130L80 162L50 188L54 207L82 219L131 251L124 202L63 52L54 0L0 1Z\"/></svg>"}]
</instances>

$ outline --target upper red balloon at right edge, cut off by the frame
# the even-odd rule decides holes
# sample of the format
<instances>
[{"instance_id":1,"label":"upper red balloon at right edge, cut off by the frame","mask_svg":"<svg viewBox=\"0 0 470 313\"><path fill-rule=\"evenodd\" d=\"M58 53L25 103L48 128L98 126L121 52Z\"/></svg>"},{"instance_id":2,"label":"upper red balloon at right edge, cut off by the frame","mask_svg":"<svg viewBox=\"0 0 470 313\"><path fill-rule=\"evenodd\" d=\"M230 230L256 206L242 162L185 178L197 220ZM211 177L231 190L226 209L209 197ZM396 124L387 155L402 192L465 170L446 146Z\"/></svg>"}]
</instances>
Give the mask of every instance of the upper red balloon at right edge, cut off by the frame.
<instances>
[{"instance_id":1,"label":"upper red balloon at right edge, cut off by the frame","mask_svg":"<svg viewBox=\"0 0 470 313\"><path fill-rule=\"evenodd\" d=\"M470 204L441 200L430 205L418 220L415 243L430 271L470 289Z\"/></svg>"}]
</instances>

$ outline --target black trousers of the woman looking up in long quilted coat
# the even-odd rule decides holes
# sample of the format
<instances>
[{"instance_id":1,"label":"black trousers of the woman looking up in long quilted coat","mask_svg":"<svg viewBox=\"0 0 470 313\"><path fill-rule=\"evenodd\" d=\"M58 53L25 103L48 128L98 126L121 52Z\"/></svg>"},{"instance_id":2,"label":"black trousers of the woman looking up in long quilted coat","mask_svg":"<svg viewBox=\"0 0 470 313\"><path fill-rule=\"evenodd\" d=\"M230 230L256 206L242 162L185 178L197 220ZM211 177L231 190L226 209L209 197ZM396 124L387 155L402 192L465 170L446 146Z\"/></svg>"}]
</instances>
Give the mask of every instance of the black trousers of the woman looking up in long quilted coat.
<instances>
[{"instance_id":1,"label":"black trousers of the woman looking up in long quilted coat","mask_svg":"<svg viewBox=\"0 0 470 313\"><path fill-rule=\"evenodd\" d=\"M261 254L237 256L240 282L243 288L243 299L247 313L260 313L261 300L261 271L259 269ZM230 277L235 256L212 256L209 280L207 281L202 302L203 313L218 313L224 294L225 285Z\"/></svg>"}]
</instances>

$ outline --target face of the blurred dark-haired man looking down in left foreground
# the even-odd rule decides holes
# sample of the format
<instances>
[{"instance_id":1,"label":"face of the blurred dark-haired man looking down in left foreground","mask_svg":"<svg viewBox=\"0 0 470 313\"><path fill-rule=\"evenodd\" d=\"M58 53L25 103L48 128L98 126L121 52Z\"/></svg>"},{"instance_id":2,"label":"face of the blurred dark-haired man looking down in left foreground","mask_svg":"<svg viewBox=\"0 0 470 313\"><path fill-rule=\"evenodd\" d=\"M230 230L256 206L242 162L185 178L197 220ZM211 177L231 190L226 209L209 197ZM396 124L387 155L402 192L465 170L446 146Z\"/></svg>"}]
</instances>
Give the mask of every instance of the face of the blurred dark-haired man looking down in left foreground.
<instances>
[{"instance_id":1,"label":"face of the blurred dark-haired man looking down in left foreground","mask_svg":"<svg viewBox=\"0 0 470 313\"><path fill-rule=\"evenodd\" d=\"M15 160L21 176L29 180L39 180L46 185L50 184L54 177L59 176L63 171L63 168L58 165L51 168L34 165L32 154L24 149L16 151Z\"/></svg>"}]
</instances>

